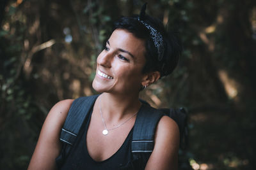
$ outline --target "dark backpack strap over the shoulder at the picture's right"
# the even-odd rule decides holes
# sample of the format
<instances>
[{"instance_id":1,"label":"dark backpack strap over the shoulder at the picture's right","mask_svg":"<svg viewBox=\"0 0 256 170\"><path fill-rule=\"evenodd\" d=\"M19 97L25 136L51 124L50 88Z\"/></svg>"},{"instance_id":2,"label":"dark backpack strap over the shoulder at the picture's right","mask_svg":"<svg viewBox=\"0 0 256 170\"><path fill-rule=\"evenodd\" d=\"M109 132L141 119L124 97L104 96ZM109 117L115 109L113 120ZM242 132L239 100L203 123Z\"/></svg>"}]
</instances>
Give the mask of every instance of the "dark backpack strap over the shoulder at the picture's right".
<instances>
[{"instance_id":1,"label":"dark backpack strap over the shoulder at the picture's right","mask_svg":"<svg viewBox=\"0 0 256 170\"><path fill-rule=\"evenodd\" d=\"M154 134L156 126L163 113L148 104L143 104L137 115L132 134L132 157L141 159L140 166L145 168L147 160L154 149Z\"/></svg>"}]
</instances>

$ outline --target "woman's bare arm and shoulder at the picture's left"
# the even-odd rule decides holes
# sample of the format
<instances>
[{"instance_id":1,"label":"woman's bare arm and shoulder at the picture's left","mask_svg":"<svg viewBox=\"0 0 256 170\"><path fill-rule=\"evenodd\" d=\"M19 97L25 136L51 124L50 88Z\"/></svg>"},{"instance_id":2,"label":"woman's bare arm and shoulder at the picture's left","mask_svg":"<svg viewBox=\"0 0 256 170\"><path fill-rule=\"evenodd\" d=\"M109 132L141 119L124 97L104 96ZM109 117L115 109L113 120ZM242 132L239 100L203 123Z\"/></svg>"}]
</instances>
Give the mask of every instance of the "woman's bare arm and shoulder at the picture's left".
<instances>
[{"instance_id":1,"label":"woman's bare arm and shoulder at the picture's left","mask_svg":"<svg viewBox=\"0 0 256 170\"><path fill-rule=\"evenodd\" d=\"M72 99L67 99L52 107L41 129L28 170L56 169L55 159L61 150L60 131L72 103Z\"/></svg>"}]
</instances>

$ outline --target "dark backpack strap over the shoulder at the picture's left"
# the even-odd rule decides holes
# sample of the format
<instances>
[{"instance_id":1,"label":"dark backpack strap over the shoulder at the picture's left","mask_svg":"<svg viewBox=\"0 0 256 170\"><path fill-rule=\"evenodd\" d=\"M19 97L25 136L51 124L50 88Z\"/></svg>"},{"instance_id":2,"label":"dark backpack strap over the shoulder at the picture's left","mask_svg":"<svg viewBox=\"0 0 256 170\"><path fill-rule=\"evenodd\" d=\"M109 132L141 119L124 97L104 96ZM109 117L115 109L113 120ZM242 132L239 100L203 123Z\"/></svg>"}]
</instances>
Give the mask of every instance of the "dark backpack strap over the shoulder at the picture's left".
<instances>
[{"instance_id":1,"label":"dark backpack strap over the shoulder at the picture's left","mask_svg":"<svg viewBox=\"0 0 256 170\"><path fill-rule=\"evenodd\" d=\"M98 96L79 97L73 101L61 129L60 141L63 143L63 148L60 156L56 159L58 166L63 164L64 159L67 158L70 148L75 143L76 136L83 125L84 118L88 115Z\"/></svg>"}]
</instances>

